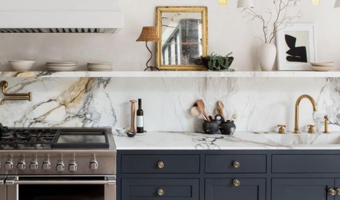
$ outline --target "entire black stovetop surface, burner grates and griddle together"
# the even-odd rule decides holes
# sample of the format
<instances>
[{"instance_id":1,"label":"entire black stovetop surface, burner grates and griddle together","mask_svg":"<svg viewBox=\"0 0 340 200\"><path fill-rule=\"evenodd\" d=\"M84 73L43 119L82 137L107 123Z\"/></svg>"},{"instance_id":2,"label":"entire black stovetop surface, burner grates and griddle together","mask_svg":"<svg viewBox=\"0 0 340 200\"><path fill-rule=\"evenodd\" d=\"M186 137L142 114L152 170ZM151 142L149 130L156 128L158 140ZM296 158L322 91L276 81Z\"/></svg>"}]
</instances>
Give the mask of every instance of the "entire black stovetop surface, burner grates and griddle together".
<instances>
[{"instance_id":1,"label":"entire black stovetop surface, burner grates and griddle together","mask_svg":"<svg viewBox=\"0 0 340 200\"><path fill-rule=\"evenodd\" d=\"M110 132L111 133L111 132ZM109 148L103 128L7 128L0 123L1 149Z\"/></svg>"}]
</instances>

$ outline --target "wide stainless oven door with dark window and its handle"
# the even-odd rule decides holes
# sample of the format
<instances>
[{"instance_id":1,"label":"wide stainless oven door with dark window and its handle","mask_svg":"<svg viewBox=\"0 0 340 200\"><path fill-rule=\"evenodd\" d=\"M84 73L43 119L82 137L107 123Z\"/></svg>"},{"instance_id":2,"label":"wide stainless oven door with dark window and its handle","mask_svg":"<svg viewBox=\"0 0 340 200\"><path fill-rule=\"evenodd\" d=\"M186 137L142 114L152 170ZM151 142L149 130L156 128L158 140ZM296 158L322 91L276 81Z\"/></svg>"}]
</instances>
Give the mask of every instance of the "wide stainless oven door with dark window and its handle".
<instances>
[{"instance_id":1,"label":"wide stainless oven door with dark window and its handle","mask_svg":"<svg viewBox=\"0 0 340 200\"><path fill-rule=\"evenodd\" d=\"M5 185L7 200L116 200L115 176L17 176Z\"/></svg>"}]
</instances>

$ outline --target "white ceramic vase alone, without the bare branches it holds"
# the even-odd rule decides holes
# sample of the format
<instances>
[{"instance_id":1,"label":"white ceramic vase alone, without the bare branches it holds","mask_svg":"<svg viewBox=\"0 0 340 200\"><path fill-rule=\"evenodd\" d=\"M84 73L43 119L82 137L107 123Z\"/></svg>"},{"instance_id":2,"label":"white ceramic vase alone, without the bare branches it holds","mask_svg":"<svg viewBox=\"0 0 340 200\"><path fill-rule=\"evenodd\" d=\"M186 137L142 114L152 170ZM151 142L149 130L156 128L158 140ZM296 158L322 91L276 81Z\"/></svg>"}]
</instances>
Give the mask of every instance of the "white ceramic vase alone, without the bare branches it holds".
<instances>
[{"instance_id":1,"label":"white ceramic vase alone, without the bare branches it holds","mask_svg":"<svg viewBox=\"0 0 340 200\"><path fill-rule=\"evenodd\" d=\"M271 43L263 43L258 50L258 60L262 71L271 71L276 58L276 46Z\"/></svg>"}]
</instances>

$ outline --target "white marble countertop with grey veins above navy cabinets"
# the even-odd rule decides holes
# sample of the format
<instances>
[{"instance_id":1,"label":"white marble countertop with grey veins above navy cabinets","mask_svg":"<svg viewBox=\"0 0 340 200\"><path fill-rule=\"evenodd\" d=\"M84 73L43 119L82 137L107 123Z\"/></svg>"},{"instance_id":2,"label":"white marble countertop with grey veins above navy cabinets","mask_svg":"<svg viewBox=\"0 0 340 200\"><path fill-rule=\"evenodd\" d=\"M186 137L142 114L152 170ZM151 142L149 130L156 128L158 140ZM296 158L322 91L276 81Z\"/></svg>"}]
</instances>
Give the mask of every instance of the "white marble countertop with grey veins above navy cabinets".
<instances>
[{"instance_id":1,"label":"white marble countertop with grey veins above navy cabinets","mask_svg":"<svg viewBox=\"0 0 340 200\"><path fill-rule=\"evenodd\" d=\"M146 135L118 136L117 150L277 150L339 149L340 133L278 134L236 132L232 136L184 132L148 132Z\"/></svg>"}]
</instances>

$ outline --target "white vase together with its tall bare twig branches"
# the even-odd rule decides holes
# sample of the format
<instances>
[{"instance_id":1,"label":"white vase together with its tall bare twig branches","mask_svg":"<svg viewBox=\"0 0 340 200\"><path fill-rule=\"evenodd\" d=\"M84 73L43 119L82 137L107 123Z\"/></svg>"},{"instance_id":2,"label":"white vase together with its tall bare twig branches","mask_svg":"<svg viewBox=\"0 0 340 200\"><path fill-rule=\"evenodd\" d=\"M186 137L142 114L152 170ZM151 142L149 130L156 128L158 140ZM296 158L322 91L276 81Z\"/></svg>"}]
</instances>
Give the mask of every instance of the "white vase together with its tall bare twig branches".
<instances>
[{"instance_id":1,"label":"white vase together with its tall bare twig branches","mask_svg":"<svg viewBox=\"0 0 340 200\"><path fill-rule=\"evenodd\" d=\"M249 18L248 22L255 19L260 20L263 35L258 37L262 40L262 45L258 49L258 60L262 71L271 71L276 58L276 46L272 44L276 33L279 30L290 26L302 17L302 13L290 15L288 10L297 6L300 0L274 0L275 11L266 9L265 15L260 15L252 7L245 7L242 12L244 17Z\"/></svg>"}]
</instances>

